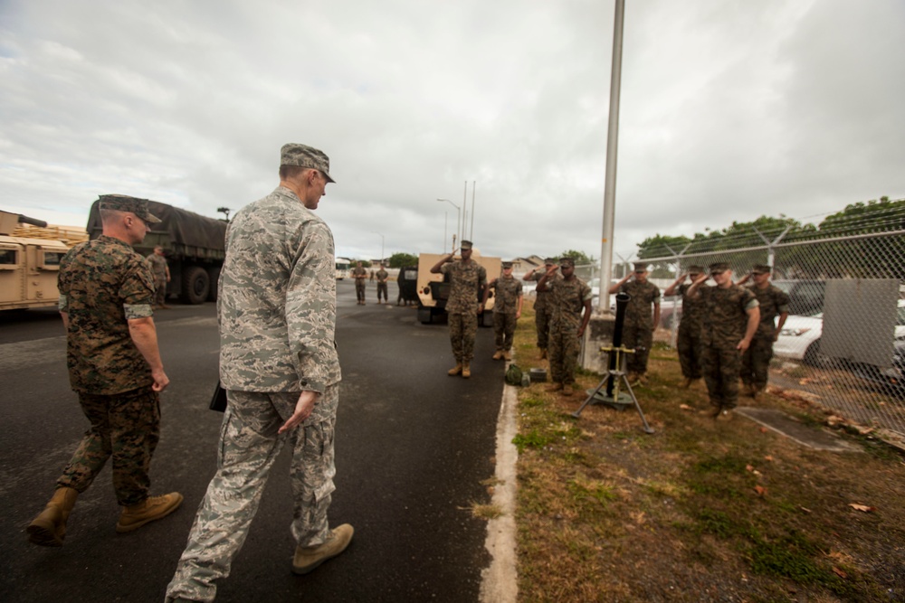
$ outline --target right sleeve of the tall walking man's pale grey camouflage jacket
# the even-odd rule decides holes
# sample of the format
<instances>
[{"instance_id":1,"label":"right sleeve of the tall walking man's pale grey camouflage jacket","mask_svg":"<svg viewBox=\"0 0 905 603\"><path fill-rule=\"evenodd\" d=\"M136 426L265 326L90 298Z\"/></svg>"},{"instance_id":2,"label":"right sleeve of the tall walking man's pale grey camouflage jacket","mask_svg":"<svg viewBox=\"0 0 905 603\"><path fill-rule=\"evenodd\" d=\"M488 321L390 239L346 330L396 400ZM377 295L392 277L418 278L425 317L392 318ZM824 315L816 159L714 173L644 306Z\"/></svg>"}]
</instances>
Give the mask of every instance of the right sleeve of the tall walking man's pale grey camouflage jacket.
<instances>
[{"instance_id":1,"label":"right sleeve of the tall walking man's pale grey camouflage jacket","mask_svg":"<svg viewBox=\"0 0 905 603\"><path fill-rule=\"evenodd\" d=\"M333 235L326 224L310 221L300 231L286 289L286 325L302 390L323 393L334 379L338 355Z\"/></svg>"}]
</instances>

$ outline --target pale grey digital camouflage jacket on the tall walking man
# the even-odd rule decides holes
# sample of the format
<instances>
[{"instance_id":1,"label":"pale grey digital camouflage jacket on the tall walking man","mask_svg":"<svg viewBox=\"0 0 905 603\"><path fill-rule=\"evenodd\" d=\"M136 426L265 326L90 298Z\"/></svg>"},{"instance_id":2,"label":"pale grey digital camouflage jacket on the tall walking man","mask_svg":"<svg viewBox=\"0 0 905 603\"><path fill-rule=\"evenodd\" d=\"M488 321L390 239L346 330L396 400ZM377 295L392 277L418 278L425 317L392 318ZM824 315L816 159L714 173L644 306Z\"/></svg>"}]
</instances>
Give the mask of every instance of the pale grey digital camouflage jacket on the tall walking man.
<instances>
[{"instance_id":1,"label":"pale grey digital camouflage jacket on the tall walking man","mask_svg":"<svg viewBox=\"0 0 905 603\"><path fill-rule=\"evenodd\" d=\"M227 390L322 393L340 380L333 233L289 189L230 221L217 316Z\"/></svg>"}]
</instances>

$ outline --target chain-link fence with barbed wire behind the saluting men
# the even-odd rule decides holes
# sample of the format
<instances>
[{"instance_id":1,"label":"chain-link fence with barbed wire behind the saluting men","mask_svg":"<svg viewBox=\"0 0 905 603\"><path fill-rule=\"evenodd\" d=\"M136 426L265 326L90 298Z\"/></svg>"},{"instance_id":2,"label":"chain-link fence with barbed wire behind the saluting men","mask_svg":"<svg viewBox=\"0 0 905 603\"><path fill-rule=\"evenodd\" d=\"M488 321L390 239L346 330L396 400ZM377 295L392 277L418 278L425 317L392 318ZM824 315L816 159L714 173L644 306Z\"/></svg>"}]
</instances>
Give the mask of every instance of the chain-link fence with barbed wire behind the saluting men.
<instances>
[{"instance_id":1,"label":"chain-link fence with barbed wire behind the saluting men","mask_svg":"<svg viewBox=\"0 0 905 603\"><path fill-rule=\"evenodd\" d=\"M848 226L773 240L757 232L764 242L757 246L702 250L692 243L645 261L661 289L692 265L729 262L736 280L753 264L772 266L773 284L791 304L770 383L803 391L854 423L905 436L905 212ZM655 338L674 345L680 320L681 298L664 297Z\"/></svg>"}]
</instances>

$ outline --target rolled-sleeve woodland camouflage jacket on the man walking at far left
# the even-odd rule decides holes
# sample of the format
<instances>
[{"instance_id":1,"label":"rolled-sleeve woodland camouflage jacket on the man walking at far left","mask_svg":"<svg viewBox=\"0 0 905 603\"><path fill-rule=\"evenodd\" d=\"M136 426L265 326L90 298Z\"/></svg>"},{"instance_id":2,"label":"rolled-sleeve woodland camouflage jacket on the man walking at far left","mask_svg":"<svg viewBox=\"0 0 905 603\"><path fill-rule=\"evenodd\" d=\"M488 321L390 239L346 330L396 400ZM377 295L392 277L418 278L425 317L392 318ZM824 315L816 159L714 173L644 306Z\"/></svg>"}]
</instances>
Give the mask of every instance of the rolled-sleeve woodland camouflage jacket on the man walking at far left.
<instances>
[{"instance_id":1,"label":"rolled-sleeve woodland camouflage jacket on the man walking at far left","mask_svg":"<svg viewBox=\"0 0 905 603\"><path fill-rule=\"evenodd\" d=\"M69 318L66 363L72 389L112 395L152 384L128 322L153 314L148 262L129 243L101 235L69 250L57 286L60 311Z\"/></svg>"}]
</instances>

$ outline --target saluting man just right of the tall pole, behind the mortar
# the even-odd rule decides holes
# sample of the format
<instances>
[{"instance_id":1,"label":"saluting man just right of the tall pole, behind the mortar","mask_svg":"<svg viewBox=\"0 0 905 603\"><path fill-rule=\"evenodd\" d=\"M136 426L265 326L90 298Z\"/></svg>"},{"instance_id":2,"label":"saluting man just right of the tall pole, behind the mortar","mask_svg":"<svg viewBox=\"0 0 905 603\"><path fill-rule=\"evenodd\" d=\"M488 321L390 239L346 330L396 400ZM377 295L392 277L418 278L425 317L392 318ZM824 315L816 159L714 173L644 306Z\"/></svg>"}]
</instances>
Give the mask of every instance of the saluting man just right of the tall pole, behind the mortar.
<instances>
[{"instance_id":1,"label":"saluting man just right of the tall pole, behind the mortar","mask_svg":"<svg viewBox=\"0 0 905 603\"><path fill-rule=\"evenodd\" d=\"M638 262L634 265L633 274L626 275L610 287L610 294L621 291L631 297L628 306L625 306L623 345L634 350L634 353L626 354L625 359L628 381L633 385L644 380L647 359L653 346L653 329L660 324L660 288L647 280L648 274L647 264ZM630 282L632 277L634 279Z\"/></svg>"}]
</instances>

